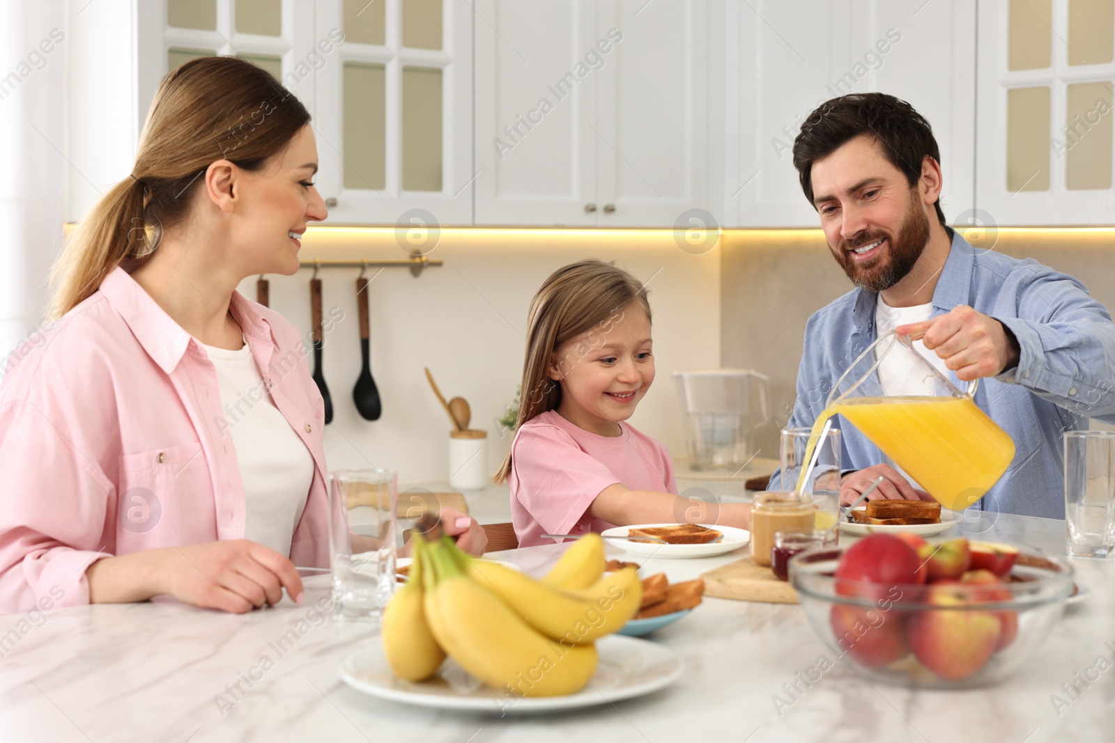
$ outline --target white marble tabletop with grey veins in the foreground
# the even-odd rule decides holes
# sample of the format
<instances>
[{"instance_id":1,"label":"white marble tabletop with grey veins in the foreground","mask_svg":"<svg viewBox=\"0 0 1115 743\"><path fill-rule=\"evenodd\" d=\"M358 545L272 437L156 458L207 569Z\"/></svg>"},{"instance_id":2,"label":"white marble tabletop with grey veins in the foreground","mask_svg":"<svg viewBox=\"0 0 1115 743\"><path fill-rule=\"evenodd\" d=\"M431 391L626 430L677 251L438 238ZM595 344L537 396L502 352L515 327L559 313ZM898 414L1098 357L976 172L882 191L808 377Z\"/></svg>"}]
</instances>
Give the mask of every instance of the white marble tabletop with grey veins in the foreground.
<instances>
[{"instance_id":1,"label":"white marble tabletop with grey veins in the foreground","mask_svg":"<svg viewBox=\"0 0 1115 743\"><path fill-rule=\"evenodd\" d=\"M1063 551L1063 521L1001 516L962 528ZM501 557L537 571L562 549ZM659 559L646 568L679 580L731 559ZM1109 742L1115 668L1059 715L1050 701L1064 682L1115 648L1115 561L1074 564L1079 583L1092 588L1089 599L1068 608L1010 680L967 692L910 692L873 686L837 663L780 716L773 695L825 652L795 606L706 599L656 636L685 659L670 688L583 711L504 718L405 706L343 685L341 658L378 635L310 608L326 595L322 577L307 581L306 606L285 602L244 616L166 602L56 610L39 626L2 617L0 741ZM6 635L12 629L14 637Z\"/></svg>"}]
</instances>

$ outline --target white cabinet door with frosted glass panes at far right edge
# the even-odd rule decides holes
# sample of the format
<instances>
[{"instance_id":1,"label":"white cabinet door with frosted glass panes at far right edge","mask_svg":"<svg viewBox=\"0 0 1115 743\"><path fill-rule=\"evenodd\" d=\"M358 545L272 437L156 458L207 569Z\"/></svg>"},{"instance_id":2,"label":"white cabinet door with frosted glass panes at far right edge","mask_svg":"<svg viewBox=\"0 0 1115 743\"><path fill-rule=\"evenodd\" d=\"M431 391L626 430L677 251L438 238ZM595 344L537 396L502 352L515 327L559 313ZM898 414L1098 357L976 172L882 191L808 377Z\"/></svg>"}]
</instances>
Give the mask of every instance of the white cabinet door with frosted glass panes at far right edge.
<instances>
[{"instance_id":1,"label":"white cabinet door with frosted glass panes at far right edge","mask_svg":"<svg viewBox=\"0 0 1115 743\"><path fill-rule=\"evenodd\" d=\"M1115 0L979 6L976 205L998 224L1115 219Z\"/></svg>"}]
</instances>

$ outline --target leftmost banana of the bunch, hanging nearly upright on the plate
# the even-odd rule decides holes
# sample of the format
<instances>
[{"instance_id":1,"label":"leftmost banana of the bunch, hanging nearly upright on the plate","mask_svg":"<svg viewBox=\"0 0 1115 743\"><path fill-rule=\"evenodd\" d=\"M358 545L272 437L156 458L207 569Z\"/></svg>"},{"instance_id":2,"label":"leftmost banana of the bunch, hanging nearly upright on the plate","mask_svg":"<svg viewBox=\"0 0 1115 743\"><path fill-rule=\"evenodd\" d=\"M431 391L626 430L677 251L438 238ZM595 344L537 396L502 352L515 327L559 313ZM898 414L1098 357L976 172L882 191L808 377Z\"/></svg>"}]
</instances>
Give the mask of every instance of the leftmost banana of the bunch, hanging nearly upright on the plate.
<instances>
[{"instance_id":1,"label":"leftmost banana of the bunch, hanging nearly upright on the plate","mask_svg":"<svg viewBox=\"0 0 1115 743\"><path fill-rule=\"evenodd\" d=\"M384 654L395 675L406 681L424 681L442 665L445 651L437 644L426 622L421 584L424 558L418 546L421 539L414 541L415 558L409 579L384 609L381 634Z\"/></svg>"}]
</instances>

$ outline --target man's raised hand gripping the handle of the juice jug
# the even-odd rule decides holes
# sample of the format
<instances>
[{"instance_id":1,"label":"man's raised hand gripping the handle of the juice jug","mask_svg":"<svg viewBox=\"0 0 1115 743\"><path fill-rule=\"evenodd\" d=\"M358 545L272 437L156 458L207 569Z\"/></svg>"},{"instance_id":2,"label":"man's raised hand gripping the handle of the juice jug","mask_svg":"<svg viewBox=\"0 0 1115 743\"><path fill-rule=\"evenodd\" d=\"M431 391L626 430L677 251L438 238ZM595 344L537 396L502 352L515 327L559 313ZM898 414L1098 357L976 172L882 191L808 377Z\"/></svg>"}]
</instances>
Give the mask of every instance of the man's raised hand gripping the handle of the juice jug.
<instances>
[{"instance_id":1,"label":"man's raised hand gripping the handle of the juice jug","mask_svg":"<svg viewBox=\"0 0 1115 743\"><path fill-rule=\"evenodd\" d=\"M913 341L920 339L964 382L1018 365L1015 334L998 320L963 304L925 322L899 325L894 332Z\"/></svg>"}]
</instances>

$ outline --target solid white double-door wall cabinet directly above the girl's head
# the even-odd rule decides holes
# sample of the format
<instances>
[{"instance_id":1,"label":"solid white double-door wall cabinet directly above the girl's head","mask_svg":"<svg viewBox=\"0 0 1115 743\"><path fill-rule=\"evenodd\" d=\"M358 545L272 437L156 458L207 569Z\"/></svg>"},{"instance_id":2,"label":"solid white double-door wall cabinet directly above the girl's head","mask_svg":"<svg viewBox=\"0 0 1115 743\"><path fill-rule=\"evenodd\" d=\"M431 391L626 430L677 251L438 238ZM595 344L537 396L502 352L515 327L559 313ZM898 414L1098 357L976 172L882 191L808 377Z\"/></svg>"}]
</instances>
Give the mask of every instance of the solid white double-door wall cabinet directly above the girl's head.
<instances>
[{"instance_id":1,"label":"solid white double-door wall cabinet directly above the girl's head","mask_svg":"<svg viewBox=\"0 0 1115 743\"><path fill-rule=\"evenodd\" d=\"M476 3L476 223L673 226L707 206L707 9Z\"/></svg>"}]
</instances>

